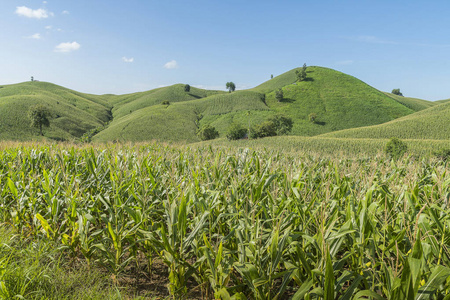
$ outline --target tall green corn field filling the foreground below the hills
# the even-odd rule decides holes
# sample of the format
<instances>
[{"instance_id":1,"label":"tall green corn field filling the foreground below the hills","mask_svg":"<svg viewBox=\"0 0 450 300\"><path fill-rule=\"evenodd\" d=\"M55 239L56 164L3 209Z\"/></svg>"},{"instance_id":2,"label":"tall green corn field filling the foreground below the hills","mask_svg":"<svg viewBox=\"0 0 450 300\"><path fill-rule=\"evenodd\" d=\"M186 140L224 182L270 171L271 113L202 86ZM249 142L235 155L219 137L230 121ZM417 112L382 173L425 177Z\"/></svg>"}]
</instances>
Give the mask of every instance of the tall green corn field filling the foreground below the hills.
<instances>
[{"instance_id":1,"label":"tall green corn field filling the foreground below the hills","mask_svg":"<svg viewBox=\"0 0 450 300\"><path fill-rule=\"evenodd\" d=\"M173 299L450 299L444 162L14 146L0 183L3 226L116 278L164 264Z\"/></svg>"}]
</instances>

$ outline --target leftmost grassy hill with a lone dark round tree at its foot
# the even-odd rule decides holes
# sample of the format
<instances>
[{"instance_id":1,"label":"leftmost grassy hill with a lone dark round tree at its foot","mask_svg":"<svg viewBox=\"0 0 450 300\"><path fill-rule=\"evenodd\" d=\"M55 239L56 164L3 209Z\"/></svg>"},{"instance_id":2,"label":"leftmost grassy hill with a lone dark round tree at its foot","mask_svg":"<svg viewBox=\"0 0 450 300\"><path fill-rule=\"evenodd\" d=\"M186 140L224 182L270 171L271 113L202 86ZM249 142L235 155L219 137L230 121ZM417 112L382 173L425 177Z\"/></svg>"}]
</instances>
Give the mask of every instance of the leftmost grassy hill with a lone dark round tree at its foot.
<instances>
[{"instance_id":1,"label":"leftmost grassy hill with a lone dark round tree at its foot","mask_svg":"<svg viewBox=\"0 0 450 300\"><path fill-rule=\"evenodd\" d=\"M46 82L24 82L0 88L0 139L30 140L37 129L30 128L27 112L35 104L52 113L45 136L55 139L80 137L102 126L110 118L111 105L105 96L83 94Z\"/></svg>"}]
</instances>

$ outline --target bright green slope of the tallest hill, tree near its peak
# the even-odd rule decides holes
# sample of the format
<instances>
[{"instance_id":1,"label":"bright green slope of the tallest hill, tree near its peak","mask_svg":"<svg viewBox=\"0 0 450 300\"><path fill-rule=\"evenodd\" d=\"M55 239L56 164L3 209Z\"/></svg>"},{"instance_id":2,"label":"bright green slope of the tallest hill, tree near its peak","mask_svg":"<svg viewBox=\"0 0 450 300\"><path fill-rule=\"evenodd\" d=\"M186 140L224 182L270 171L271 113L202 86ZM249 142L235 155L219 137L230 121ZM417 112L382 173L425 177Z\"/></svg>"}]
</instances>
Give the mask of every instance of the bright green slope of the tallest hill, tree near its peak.
<instances>
[{"instance_id":1,"label":"bright green slope of the tallest hill, tree near its peak","mask_svg":"<svg viewBox=\"0 0 450 300\"><path fill-rule=\"evenodd\" d=\"M253 90L265 92L268 106L294 120L293 135L314 136L346 128L381 124L414 111L344 73L308 67L308 78L295 82L295 69L277 76ZM277 102L281 88L284 100ZM316 124L309 114L318 116Z\"/></svg>"}]
</instances>

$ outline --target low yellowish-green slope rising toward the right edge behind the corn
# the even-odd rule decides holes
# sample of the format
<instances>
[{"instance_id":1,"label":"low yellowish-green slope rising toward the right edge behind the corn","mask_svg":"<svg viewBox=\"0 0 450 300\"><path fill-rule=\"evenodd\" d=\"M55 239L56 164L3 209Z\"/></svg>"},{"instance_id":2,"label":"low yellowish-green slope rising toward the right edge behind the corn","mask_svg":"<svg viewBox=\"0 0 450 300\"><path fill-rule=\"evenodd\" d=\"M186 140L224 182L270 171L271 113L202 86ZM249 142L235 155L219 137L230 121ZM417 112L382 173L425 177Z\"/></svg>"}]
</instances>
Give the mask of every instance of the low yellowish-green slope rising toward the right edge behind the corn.
<instances>
[{"instance_id":1,"label":"low yellowish-green slope rising toward the right edge behind the corn","mask_svg":"<svg viewBox=\"0 0 450 300\"><path fill-rule=\"evenodd\" d=\"M449 140L450 103L444 103L377 126L353 128L323 135L337 138L391 138Z\"/></svg>"}]
</instances>

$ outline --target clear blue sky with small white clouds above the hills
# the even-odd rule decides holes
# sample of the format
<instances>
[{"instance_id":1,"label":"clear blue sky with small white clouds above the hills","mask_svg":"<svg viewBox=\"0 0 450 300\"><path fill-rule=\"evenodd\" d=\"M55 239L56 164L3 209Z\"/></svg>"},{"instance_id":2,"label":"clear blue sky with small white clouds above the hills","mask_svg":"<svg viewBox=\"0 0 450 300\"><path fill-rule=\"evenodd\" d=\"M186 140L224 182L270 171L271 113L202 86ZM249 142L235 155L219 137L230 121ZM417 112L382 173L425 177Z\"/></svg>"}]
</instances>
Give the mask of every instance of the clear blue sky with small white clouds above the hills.
<instances>
[{"instance_id":1,"label":"clear blue sky with small white clouds above the hills","mask_svg":"<svg viewBox=\"0 0 450 300\"><path fill-rule=\"evenodd\" d=\"M304 63L450 98L450 1L2 0L0 84L252 88Z\"/></svg>"}]
</instances>

